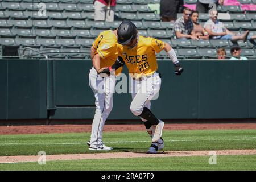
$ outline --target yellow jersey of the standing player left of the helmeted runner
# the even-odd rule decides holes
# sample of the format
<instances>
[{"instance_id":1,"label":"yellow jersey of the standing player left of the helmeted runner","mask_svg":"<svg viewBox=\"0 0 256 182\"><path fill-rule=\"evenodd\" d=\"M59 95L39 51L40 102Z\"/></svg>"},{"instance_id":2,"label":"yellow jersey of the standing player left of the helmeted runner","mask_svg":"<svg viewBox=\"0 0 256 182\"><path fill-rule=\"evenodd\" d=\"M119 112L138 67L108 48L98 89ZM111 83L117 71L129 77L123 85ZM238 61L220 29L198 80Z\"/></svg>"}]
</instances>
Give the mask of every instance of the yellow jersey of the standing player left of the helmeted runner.
<instances>
[{"instance_id":1,"label":"yellow jersey of the standing player left of the helmeted runner","mask_svg":"<svg viewBox=\"0 0 256 182\"><path fill-rule=\"evenodd\" d=\"M110 67L117 60L117 36L112 30L102 31L94 40L92 46L101 57L100 68ZM122 68L115 71L115 75L122 72Z\"/></svg>"}]
</instances>

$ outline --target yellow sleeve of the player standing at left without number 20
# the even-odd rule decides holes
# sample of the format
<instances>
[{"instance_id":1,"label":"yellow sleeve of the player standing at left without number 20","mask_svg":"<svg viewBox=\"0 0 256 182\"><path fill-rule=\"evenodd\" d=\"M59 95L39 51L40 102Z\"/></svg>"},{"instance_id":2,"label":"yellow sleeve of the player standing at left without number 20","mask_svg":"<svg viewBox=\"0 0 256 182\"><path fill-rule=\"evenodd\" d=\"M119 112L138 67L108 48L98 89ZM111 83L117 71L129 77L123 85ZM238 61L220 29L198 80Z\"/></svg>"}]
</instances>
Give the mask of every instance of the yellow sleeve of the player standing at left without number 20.
<instances>
[{"instance_id":1,"label":"yellow sleeve of the player standing at left without number 20","mask_svg":"<svg viewBox=\"0 0 256 182\"><path fill-rule=\"evenodd\" d=\"M117 46L115 44L102 43L100 47L98 47L97 52L102 59L106 59L106 57L117 53Z\"/></svg>"}]
</instances>

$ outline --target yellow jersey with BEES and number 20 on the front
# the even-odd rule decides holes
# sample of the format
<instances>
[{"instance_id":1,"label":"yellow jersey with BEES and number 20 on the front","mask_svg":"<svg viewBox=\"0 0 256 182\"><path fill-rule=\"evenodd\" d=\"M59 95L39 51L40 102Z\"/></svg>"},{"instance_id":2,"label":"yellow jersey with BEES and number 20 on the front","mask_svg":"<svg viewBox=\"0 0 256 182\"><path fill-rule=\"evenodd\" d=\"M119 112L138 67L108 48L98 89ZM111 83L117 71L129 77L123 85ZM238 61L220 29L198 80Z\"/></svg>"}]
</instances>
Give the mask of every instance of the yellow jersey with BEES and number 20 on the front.
<instances>
[{"instance_id":1,"label":"yellow jersey with BEES and number 20 on the front","mask_svg":"<svg viewBox=\"0 0 256 182\"><path fill-rule=\"evenodd\" d=\"M161 40L143 36L138 36L133 48L117 44L118 54L125 61L133 78L152 75L158 69L155 52L159 53L163 48L164 42Z\"/></svg>"}]
</instances>

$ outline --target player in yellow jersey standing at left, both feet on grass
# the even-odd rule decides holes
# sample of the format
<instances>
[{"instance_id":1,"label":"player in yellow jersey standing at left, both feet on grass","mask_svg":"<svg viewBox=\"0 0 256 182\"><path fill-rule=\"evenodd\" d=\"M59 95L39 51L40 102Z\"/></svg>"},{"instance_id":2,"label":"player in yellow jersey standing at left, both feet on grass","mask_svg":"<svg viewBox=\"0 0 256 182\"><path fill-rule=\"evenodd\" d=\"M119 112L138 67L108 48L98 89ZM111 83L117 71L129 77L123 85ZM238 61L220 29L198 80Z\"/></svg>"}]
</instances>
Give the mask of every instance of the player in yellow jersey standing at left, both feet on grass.
<instances>
[{"instance_id":1,"label":"player in yellow jersey standing at left, both feet on grass","mask_svg":"<svg viewBox=\"0 0 256 182\"><path fill-rule=\"evenodd\" d=\"M98 71L115 63L117 60L117 30L103 31L91 47L93 67L89 73L89 84L95 96L96 111L92 123L92 133L87 143L89 150L112 150L102 142L102 130L113 107L115 76L101 77ZM117 69L118 74L122 69Z\"/></svg>"}]
</instances>

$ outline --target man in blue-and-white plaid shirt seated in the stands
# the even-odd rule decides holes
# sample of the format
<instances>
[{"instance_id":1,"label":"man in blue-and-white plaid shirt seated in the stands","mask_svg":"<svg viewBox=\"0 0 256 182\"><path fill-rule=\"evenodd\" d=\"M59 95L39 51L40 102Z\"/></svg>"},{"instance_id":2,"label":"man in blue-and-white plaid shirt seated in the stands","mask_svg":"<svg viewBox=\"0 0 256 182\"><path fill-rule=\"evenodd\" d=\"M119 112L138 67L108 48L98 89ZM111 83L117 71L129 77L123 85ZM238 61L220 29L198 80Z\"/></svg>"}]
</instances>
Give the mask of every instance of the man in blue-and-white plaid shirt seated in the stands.
<instances>
[{"instance_id":1,"label":"man in blue-and-white plaid shirt seated in the stands","mask_svg":"<svg viewBox=\"0 0 256 182\"><path fill-rule=\"evenodd\" d=\"M175 39L193 39L199 40L195 35L191 35L193 31L193 22L191 21L191 9L185 8L183 16L177 19L174 23L174 38Z\"/></svg>"}]
</instances>

